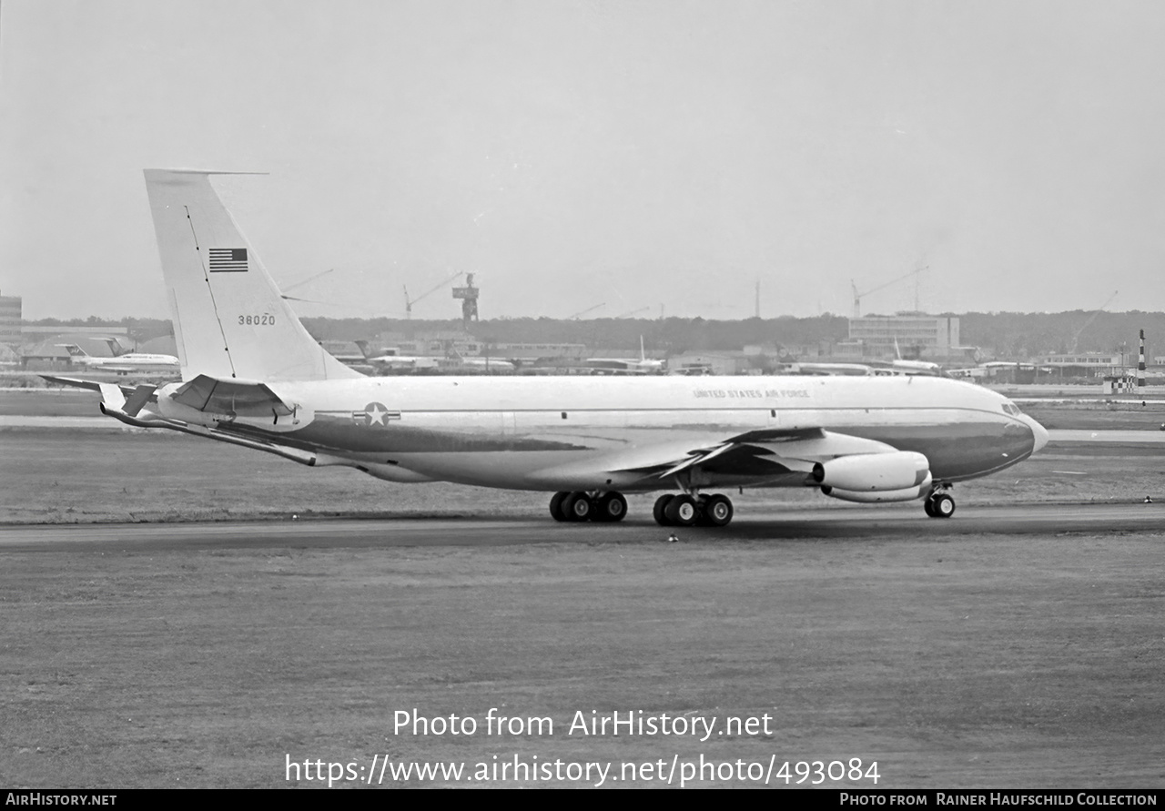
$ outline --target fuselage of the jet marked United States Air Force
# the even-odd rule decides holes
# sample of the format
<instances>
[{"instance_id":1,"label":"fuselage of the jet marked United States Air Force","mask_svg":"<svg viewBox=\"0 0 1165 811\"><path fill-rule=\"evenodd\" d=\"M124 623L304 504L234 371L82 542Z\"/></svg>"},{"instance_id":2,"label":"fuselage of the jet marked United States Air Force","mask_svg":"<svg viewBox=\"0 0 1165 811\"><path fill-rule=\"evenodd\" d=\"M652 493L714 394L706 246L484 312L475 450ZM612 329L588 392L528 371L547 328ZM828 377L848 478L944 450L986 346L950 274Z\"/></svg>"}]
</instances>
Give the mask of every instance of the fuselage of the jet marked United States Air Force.
<instances>
[{"instance_id":1,"label":"fuselage of the jet marked United States Air Force","mask_svg":"<svg viewBox=\"0 0 1165 811\"><path fill-rule=\"evenodd\" d=\"M168 417L277 435L283 444L365 465L516 489L650 489L638 474L612 467L635 470L637 454L647 464L666 449L684 458L750 431L835 430L924 453L944 480L984 475L1037 445L1036 423L1005 411L1004 397L941 378L370 378L269 386L296 409L294 421L224 421L168 405L164 389L160 407Z\"/></svg>"}]
</instances>

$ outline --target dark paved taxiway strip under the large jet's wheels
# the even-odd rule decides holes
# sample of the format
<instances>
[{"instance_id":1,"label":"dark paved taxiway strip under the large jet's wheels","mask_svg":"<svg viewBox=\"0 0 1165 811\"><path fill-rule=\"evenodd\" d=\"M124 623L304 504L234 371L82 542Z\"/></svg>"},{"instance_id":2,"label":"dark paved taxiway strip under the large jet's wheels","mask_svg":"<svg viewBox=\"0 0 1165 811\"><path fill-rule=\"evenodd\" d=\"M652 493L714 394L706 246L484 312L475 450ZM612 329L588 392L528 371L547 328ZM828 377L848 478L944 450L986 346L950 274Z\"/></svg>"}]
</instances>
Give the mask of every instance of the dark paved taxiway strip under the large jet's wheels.
<instances>
[{"instance_id":1,"label":"dark paved taxiway strip under the large jet's wheels","mask_svg":"<svg viewBox=\"0 0 1165 811\"><path fill-rule=\"evenodd\" d=\"M642 519L621 524L556 524L545 519L334 519L190 523L99 523L0 527L0 549L59 551L186 549L370 549L524 544L797 541L802 538L955 538L965 535L1157 533L1165 503L1009 505L960 508L927 519L917 505L822 508L740 515L723 529L664 528Z\"/></svg>"}]
</instances>

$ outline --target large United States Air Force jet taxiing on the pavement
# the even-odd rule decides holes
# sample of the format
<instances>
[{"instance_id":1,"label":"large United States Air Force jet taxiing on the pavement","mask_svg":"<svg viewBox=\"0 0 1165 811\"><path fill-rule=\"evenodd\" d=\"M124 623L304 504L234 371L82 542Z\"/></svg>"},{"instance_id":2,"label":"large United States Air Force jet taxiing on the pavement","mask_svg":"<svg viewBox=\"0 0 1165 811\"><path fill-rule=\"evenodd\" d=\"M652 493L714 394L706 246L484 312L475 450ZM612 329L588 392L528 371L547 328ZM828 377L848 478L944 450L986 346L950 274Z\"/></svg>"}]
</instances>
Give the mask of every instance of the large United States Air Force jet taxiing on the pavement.
<instances>
[{"instance_id":1,"label":"large United States Air Force jet taxiing on the pavement","mask_svg":"<svg viewBox=\"0 0 1165 811\"><path fill-rule=\"evenodd\" d=\"M948 517L954 482L1047 442L1005 397L945 378L366 378L304 330L213 174L146 170L183 382L68 381L130 425L394 482L545 491L558 521L620 521L623 493L668 491L658 523L714 527L733 505L709 491L729 487L922 499Z\"/></svg>"}]
</instances>

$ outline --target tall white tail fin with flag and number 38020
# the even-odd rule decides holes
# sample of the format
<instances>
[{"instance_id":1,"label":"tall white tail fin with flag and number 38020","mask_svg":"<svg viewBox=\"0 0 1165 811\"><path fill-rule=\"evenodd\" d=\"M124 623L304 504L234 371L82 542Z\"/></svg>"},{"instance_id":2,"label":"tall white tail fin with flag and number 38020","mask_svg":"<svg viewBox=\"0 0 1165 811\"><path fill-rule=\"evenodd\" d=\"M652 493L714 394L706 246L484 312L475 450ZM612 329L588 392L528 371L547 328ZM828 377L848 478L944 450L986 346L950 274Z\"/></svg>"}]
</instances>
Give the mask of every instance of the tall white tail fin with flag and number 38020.
<instances>
[{"instance_id":1,"label":"tall white tail fin with flag and number 38020","mask_svg":"<svg viewBox=\"0 0 1165 811\"><path fill-rule=\"evenodd\" d=\"M214 174L146 170L183 380L361 376L303 329L211 186Z\"/></svg>"}]
</instances>

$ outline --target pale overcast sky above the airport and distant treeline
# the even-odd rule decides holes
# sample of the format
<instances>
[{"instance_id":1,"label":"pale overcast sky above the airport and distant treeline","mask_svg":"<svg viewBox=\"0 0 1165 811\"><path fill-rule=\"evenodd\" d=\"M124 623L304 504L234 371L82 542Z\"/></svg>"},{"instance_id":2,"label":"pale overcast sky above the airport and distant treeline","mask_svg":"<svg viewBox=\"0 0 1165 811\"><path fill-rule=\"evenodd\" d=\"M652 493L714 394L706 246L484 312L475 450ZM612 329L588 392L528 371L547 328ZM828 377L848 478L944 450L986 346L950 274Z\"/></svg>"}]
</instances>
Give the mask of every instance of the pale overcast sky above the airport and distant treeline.
<instances>
[{"instance_id":1,"label":"pale overcast sky above the airport and distant treeline","mask_svg":"<svg viewBox=\"0 0 1165 811\"><path fill-rule=\"evenodd\" d=\"M482 318L1165 310L1162 42L1156 0L2 0L0 295L167 317L156 167L269 172L216 185L306 316L458 271Z\"/></svg>"}]
</instances>

